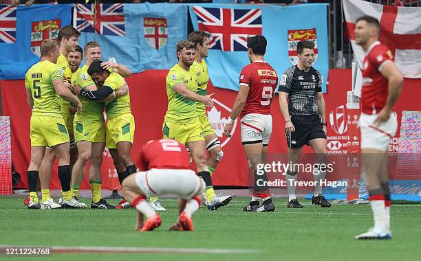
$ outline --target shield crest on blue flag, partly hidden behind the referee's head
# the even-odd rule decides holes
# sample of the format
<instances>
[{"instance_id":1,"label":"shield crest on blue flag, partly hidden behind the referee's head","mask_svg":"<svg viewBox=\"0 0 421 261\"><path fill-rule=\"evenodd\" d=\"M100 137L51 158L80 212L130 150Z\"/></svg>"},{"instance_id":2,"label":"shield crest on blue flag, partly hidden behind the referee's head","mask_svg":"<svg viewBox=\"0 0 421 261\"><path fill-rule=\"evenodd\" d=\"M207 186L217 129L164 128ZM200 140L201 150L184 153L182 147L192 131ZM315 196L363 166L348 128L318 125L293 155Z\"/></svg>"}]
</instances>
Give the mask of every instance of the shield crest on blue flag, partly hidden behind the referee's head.
<instances>
[{"instance_id":1,"label":"shield crest on blue flag, partly hidden behind the referee's head","mask_svg":"<svg viewBox=\"0 0 421 261\"><path fill-rule=\"evenodd\" d=\"M288 30L288 56L292 65L299 62L296 54L296 45L299 41L312 41L314 43L314 61L317 59L317 34L316 28L303 29L303 30Z\"/></svg>"}]
</instances>

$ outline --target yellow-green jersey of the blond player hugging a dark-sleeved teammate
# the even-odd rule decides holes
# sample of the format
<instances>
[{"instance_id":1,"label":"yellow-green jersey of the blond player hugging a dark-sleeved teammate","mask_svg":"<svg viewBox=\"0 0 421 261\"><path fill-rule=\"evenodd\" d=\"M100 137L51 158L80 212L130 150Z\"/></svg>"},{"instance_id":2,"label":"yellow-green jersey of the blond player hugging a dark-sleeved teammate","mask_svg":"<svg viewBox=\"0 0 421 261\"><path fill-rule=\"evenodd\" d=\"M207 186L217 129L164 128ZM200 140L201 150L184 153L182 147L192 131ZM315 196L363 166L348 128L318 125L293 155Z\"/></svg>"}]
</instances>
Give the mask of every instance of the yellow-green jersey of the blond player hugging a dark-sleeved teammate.
<instances>
[{"instance_id":1,"label":"yellow-green jersey of the blond player hugging a dark-sleeved teammate","mask_svg":"<svg viewBox=\"0 0 421 261\"><path fill-rule=\"evenodd\" d=\"M87 65L83 65L82 68L78 69L76 79L73 82L74 85L78 85L82 89L91 85L95 86L94 80L92 80L91 76L87 73L88 68L89 67ZM95 122L104 117L102 115L102 111L104 111L104 102L94 102L83 98L82 96L78 96L78 98L80 103L82 103L82 111L78 111L76 113L74 120L78 122Z\"/></svg>"}]
</instances>

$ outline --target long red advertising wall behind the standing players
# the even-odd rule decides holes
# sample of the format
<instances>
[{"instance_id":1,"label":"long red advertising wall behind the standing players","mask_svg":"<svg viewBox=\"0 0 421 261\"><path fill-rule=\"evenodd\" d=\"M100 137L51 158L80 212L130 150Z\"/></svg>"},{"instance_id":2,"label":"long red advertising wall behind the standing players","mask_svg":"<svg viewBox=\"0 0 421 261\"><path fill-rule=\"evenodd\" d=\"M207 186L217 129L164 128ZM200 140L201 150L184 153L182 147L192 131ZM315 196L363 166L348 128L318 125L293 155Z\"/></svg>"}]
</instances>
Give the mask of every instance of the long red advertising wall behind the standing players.
<instances>
[{"instance_id":1,"label":"long red advertising wall behind the standing players","mask_svg":"<svg viewBox=\"0 0 421 261\"><path fill-rule=\"evenodd\" d=\"M136 120L136 132L131 155L133 161L139 157L139 148L149 139L162 137L162 121L167 107L165 76L167 71L144 71L127 78L130 87L131 109ZM347 144L347 91L351 89L350 69L331 69L329 73L328 93L325 94L327 117L327 146L330 153L345 153ZM418 97L421 93L421 80L407 80L396 109L400 120L402 110L421 111ZM19 188L28 188L26 172L30 161L30 109L26 103L23 80L1 80L1 98L3 115L10 115L12 126L12 160L22 179ZM215 92L215 108L209 111L209 118L213 124L221 143L224 145L224 159L222 159L213 176L214 185L248 185L248 163L241 146L239 124L235 126L235 133L231 139L223 137L223 126L228 118L237 92L225 89L215 89L210 84L209 93ZM270 139L270 154L285 154L286 142L284 123L279 111L278 95L272 103L273 131ZM342 112L341 112L342 111ZM343 119L341 113L344 113ZM332 120L330 115L332 114ZM354 115L352 115L354 117ZM351 119L353 120L353 119ZM345 125L343 124L345 122ZM344 131L345 130L345 131ZM345 137L345 138L344 138ZM396 143L398 139L393 139ZM398 148L392 144L391 148ZM304 152L311 152L306 146ZM53 168L50 188L60 188L56 165ZM83 181L82 189L89 188L87 177ZM102 163L102 188L119 188L116 172L112 166L112 159L104 152Z\"/></svg>"}]
</instances>

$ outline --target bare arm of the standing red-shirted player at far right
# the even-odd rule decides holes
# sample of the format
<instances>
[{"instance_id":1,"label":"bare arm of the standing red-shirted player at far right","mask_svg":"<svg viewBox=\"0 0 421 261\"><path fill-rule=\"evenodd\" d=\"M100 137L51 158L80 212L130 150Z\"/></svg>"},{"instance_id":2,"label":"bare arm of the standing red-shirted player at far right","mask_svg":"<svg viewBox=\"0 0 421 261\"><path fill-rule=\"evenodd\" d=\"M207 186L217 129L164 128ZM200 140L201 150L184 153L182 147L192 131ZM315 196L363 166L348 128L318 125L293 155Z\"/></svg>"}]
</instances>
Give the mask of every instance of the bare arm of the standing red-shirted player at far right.
<instances>
[{"instance_id":1,"label":"bare arm of the standing red-shirted player at far right","mask_svg":"<svg viewBox=\"0 0 421 261\"><path fill-rule=\"evenodd\" d=\"M387 87L388 93L385 107L378 113L377 119L374 121L376 125L389 120L390 113L396 104L396 100L398 100L403 84L402 73L392 61L385 64L380 73L387 78L389 85Z\"/></svg>"}]
</instances>

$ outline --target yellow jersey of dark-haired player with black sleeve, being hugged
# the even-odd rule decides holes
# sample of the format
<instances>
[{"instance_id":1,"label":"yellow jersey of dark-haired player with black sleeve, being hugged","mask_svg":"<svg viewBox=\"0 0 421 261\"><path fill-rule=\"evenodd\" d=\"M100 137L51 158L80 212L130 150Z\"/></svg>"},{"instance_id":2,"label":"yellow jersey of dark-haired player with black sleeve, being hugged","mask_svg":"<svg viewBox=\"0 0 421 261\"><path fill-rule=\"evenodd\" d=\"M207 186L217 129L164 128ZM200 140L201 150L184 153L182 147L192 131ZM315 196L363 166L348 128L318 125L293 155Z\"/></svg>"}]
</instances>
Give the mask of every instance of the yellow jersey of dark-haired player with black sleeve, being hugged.
<instances>
[{"instance_id":1,"label":"yellow jersey of dark-haired player with black sleeve, being hugged","mask_svg":"<svg viewBox=\"0 0 421 261\"><path fill-rule=\"evenodd\" d=\"M118 73L111 72L107 79L105 79L103 86L108 86L113 91L116 91L124 84L126 84L125 78L120 76ZM105 111L107 111L107 117L109 119L121 114L131 113L129 93L127 93L127 95L117 97L111 102L105 102Z\"/></svg>"}]
</instances>

